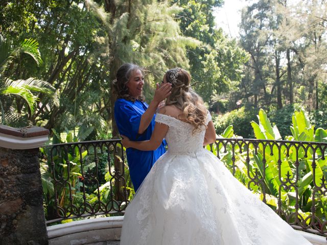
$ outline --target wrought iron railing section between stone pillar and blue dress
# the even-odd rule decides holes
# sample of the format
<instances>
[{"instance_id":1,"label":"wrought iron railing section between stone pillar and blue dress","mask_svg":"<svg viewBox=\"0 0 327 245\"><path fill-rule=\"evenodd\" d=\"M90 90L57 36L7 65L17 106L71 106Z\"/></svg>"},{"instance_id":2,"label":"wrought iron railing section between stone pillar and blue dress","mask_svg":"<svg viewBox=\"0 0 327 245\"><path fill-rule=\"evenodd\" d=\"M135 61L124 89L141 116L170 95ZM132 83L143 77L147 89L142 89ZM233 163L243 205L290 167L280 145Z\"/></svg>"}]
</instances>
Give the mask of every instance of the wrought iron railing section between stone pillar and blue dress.
<instances>
[{"instance_id":1,"label":"wrought iron railing section between stone pillar and blue dress","mask_svg":"<svg viewBox=\"0 0 327 245\"><path fill-rule=\"evenodd\" d=\"M54 190L46 203L47 224L125 210L129 201L119 139L54 144L42 153Z\"/></svg>"}]
</instances>

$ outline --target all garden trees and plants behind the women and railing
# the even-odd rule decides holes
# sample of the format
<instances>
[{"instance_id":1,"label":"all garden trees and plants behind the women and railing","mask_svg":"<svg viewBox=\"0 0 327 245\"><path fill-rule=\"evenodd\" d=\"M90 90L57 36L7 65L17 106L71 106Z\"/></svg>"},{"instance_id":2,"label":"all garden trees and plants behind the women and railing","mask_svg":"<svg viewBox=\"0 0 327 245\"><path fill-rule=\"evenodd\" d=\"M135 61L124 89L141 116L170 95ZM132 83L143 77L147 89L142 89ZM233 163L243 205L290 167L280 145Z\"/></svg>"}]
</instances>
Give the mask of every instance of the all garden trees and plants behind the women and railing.
<instances>
[{"instance_id":1,"label":"all garden trees and plants behind the women and railing","mask_svg":"<svg viewBox=\"0 0 327 245\"><path fill-rule=\"evenodd\" d=\"M217 134L225 138L326 142L327 3L249 1L242 10L237 39L216 28L213 13L223 4L222 0L0 2L0 123L49 129L49 144L119 138L112 120L112 80L121 64L133 62L145 67L147 102L166 70L176 66L189 70L192 86L213 115ZM55 215L51 163L46 149L42 154L44 206L46 218L51 219ZM99 157L103 159L99 182L106 201L109 165L105 154ZM300 156L301 173L296 177L302 181L304 216L310 215L312 201L307 157ZM284 158L289 168L283 176L295 178L294 159L288 154ZM260 171L262 159L251 159L250 171ZM321 152L317 159L322 178L326 161ZM83 181L80 162L73 156L70 160L76 167L69 178L78 201ZM64 173L66 163L56 161ZM237 178L246 183L248 170L241 163L237 166ZM273 197L281 195L276 192L281 183L274 179L276 168L270 168L272 174L265 181L269 204L276 207ZM128 186L131 198L130 182ZM88 188L92 199L94 187ZM60 202L68 202L65 188L59 192ZM291 210L294 199L289 192L285 191L283 202ZM319 198L319 215L325 220L324 193Z\"/></svg>"}]
</instances>

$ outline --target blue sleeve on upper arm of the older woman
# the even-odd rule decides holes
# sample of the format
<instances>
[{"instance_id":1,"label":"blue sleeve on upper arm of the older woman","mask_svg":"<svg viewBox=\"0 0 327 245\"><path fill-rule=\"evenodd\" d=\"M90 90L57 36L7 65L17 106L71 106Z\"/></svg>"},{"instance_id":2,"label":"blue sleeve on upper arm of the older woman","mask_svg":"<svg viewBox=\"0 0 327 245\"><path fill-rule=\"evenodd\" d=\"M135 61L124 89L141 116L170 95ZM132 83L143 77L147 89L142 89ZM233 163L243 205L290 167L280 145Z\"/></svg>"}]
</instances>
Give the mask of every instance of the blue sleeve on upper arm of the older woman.
<instances>
[{"instance_id":1,"label":"blue sleeve on upper arm of the older woman","mask_svg":"<svg viewBox=\"0 0 327 245\"><path fill-rule=\"evenodd\" d=\"M141 116L136 110L125 103L115 103L114 118L120 134L131 140L137 140Z\"/></svg>"}]
</instances>

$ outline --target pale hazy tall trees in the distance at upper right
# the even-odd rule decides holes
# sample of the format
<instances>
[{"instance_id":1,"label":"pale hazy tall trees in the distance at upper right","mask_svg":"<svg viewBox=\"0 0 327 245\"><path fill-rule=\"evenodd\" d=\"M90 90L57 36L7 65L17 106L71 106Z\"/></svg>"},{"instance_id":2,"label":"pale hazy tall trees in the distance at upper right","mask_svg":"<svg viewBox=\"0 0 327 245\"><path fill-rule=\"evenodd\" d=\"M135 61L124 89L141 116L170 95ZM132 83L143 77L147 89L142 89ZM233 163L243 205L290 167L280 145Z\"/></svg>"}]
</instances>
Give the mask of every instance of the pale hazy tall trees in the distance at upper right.
<instances>
[{"instance_id":1,"label":"pale hazy tall trees in the distance at upper right","mask_svg":"<svg viewBox=\"0 0 327 245\"><path fill-rule=\"evenodd\" d=\"M250 59L234 100L262 108L297 103L308 111L322 109L326 6L319 1L256 0L242 9L240 45Z\"/></svg>"}]
</instances>

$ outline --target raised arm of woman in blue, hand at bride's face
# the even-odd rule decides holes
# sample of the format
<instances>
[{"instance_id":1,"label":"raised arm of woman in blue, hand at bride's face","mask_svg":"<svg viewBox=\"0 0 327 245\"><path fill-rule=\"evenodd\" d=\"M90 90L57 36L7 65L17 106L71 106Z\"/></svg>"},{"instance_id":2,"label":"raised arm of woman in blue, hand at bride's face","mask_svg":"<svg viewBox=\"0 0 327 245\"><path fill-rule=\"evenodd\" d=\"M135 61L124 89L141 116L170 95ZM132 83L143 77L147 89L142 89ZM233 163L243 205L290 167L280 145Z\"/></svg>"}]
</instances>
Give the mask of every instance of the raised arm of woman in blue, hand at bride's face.
<instances>
[{"instance_id":1,"label":"raised arm of woman in blue, hand at bride's face","mask_svg":"<svg viewBox=\"0 0 327 245\"><path fill-rule=\"evenodd\" d=\"M161 101L165 100L171 93L171 86L171 83L165 83L160 87L159 84L157 84L153 100L150 102L148 109L143 113L141 121L139 122L138 134L143 134L144 131L146 131L146 129L149 127L158 105Z\"/></svg>"}]
</instances>

